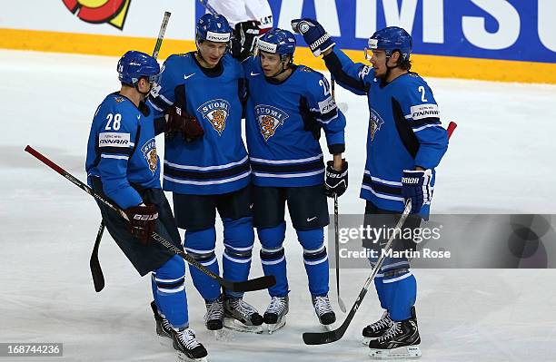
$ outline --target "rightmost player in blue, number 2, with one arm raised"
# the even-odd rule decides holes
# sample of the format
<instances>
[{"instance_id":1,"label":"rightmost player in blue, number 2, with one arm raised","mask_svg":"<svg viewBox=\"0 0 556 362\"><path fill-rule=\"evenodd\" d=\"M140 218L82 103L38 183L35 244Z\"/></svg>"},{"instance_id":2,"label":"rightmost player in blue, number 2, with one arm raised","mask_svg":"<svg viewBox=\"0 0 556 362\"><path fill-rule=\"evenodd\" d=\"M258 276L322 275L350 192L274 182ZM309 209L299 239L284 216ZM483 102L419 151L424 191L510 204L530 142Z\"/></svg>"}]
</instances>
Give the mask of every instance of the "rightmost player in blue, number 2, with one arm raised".
<instances>
[{"instance_id":1,"label":"rightmost player in blue, number 2, with one arm raised","mask_svg":"<svg viewBox=\"0 0 556 362\"><path fill-rule=\"evenodd\" d=\"M333 39L316 21L297 19L292 24L315 56L323 54L340 85L368 97L370 122L361 190L366 201L365 223L380 228L384 218L390 217L385 224L393 226L399 219L395 214L403 210L404 201L411 200L413 215L403 228L418 228L422 218L428 219L434 168L447 150L448 137L431 88L410 72L411 35L395 26L372 34L365 51L372 65L365 65L353 63L334 47ZM402 241L394 243L406 249ZM413 306L417 287L409 261L385 259L374 284L385 310L379 321L363 329L363 337L370 340L371 356L421 356Z\"/></svg>"}]
</instances>

